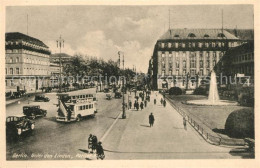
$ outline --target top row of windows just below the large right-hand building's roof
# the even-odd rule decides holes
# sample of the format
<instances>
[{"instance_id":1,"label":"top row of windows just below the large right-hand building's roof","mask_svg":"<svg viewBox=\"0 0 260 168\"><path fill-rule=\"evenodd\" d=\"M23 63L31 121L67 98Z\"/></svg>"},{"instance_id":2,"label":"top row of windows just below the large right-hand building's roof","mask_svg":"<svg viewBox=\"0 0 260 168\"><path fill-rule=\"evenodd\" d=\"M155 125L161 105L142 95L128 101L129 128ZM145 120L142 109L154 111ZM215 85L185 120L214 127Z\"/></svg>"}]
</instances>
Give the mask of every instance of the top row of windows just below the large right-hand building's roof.
<instances>
[{"instance_id":1,"label":"top row of windows just below the large right-hand building's roof","mask_svg":"<svg viewBox=\"0 0 260 168\"><path fill-rule=\"evenodd\" d=\"M168 42L168 43L161 42L161 43L159 43L160 48L195 48L195 47L219 48L219 47L225 47L225 46L226 46L226 43L224 43L224 42ZM228 46L235 47L236 45L234 42L229 42Z\"/></svg>"}]
</instances>

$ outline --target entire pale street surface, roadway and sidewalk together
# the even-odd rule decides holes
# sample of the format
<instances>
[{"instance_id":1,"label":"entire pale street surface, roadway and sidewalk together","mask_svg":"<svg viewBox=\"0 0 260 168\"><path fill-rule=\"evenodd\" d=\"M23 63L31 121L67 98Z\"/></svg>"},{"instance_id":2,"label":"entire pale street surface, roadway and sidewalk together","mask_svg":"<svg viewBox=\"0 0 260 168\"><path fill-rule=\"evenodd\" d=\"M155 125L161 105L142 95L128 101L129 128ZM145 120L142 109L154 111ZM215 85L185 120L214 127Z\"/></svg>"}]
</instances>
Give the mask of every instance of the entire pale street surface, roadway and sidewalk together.
<instances>
[{"instance_id":1,"label":"entire pale street surface, roadway and sidewalk together","mask_svg":"<svg viewBox=\"0 0 260 168\"><path fill-rule=\"evenodd\" d=\"M44 118L35 120L35 130L18 141L7 142L7 160L61 160L96 159L87 152L89 134L102 140L105 159L179 159L179 158L241 158L232 155L228 147L208 144L189 125L184 129L182 117L167 103L160 104L160 95L151 95L151 102L143 110L133 108L126 111L126 119L121 119L122 99L106 100L105 93L97 93L98 113L81 122L56 122L57 98L55 93L47 93L50 102L33 102L48 110ZM154 98L157 104L153 104ZM134 102L134 94L129 96ZM139 99L140 101L140 99ZM127 96L126 96L127 102ZM7 116L22 113L20 104L7 106ZM150 128L148 116L154 114L155 124ZM117 118L118 117L118 118Z\"/></svg>"}]
</instances>

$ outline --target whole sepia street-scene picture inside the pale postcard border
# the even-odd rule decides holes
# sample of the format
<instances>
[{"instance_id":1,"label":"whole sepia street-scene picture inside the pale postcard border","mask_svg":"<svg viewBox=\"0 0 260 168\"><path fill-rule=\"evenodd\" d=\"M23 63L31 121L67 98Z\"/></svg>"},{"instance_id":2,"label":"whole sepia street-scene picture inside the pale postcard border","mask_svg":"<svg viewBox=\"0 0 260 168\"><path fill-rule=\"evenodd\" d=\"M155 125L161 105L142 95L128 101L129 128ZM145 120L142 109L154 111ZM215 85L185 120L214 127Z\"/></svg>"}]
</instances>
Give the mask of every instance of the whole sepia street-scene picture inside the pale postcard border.
<instances>
[{"instance_id":1,"label":"whole sepia street-scene picture inside the pale postcard border","mask_svg":"<svg viewBox=\"0 0 260 168\"><path fill-rule=\"evenodd\" d=\"M254 12L5 6L6 161L254 160Z\"/></svg>"}]
</instances>

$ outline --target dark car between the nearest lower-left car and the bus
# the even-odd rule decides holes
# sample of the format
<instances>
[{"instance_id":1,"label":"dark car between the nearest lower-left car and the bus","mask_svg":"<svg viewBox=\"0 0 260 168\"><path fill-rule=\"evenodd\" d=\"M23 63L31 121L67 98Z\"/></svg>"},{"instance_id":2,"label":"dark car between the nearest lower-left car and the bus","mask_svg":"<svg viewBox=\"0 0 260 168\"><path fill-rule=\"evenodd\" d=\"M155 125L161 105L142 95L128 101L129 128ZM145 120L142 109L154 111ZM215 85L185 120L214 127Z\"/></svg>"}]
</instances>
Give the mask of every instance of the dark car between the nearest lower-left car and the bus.
<instances>
[{"instance_id":1,"label":"dark car between the nearest lower-left car and the bus","mask_svg":"<svg viewBox=\"0 0 260 168\"><path fill-rule=\"evenodd\" d=\"M47 110L41 109L39 105L23 106L23 114L28 118L45 117Z\"/></svg>"}]
</instances>

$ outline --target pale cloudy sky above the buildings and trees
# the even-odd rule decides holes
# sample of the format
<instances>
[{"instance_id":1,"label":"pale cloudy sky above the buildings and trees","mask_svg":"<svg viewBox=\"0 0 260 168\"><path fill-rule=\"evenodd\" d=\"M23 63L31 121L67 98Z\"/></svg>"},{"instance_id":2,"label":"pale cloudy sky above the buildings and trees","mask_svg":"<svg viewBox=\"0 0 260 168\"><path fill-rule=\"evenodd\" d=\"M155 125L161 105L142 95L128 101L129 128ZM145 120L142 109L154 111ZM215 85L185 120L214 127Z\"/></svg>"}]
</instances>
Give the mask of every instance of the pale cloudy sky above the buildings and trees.
<instances>
[{"instance_id":1,"label":"pale cloudy sky above the buildings and trees","mask_svg":"<svg viewBox=\"0 0 260 168\"><path fill-rule=\"evenodd\" d=\"M183 6L8 6L6 32L21 32L43 41L58 53L56 40L65 40L61 52L96 56L104 60L125 57L125 66L147 72L156 41L169 28L253 29L252 5Z\"/></svg>"}]
</instances>

